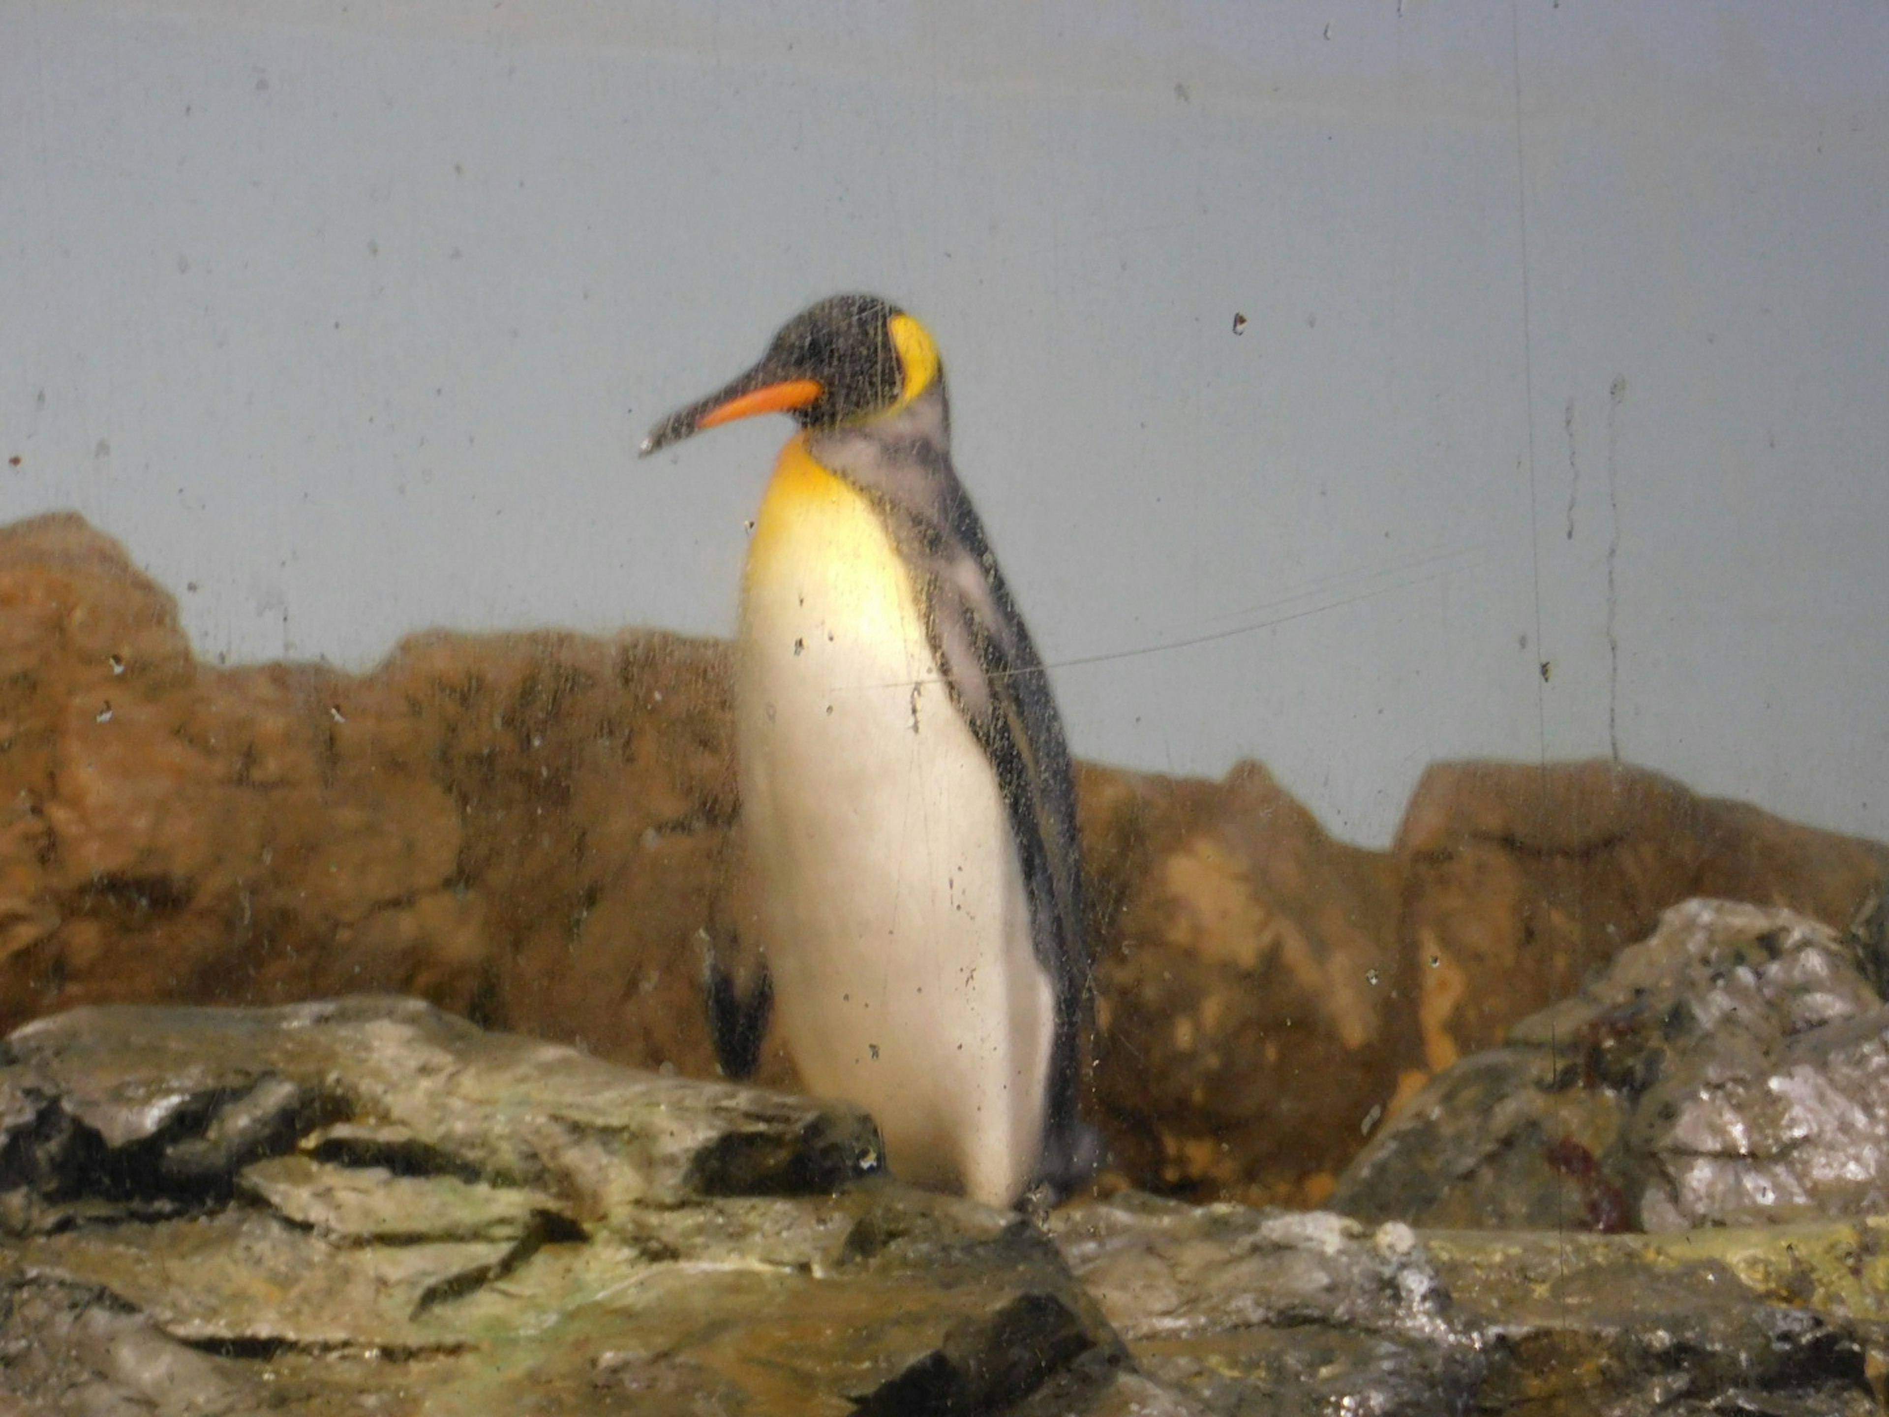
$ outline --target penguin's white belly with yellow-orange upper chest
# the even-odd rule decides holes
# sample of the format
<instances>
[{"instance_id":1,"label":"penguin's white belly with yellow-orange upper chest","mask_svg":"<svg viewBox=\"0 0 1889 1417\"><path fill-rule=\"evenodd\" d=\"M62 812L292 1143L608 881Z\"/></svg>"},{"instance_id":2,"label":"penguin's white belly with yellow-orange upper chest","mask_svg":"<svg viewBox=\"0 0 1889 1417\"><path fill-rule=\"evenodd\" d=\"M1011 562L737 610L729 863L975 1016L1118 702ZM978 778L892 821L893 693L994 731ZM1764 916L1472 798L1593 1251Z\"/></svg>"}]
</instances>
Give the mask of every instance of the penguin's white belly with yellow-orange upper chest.
<instances>
[{"instance_id":1,"label":"penguin's white belly with yellow-orange upper chest","mask_svg":"<svg viewBox=\"0 0 1889 1417\"><path fill-rule=\"evenodd\" d=\"M788 474L784 457L735 684L774 1009L807 1086L871 1111L897 1177L1009 1205L1037 1164L1054 1028L1009 816L876 514L805 469L778 493Z\"/></svg>"}]
</instances>

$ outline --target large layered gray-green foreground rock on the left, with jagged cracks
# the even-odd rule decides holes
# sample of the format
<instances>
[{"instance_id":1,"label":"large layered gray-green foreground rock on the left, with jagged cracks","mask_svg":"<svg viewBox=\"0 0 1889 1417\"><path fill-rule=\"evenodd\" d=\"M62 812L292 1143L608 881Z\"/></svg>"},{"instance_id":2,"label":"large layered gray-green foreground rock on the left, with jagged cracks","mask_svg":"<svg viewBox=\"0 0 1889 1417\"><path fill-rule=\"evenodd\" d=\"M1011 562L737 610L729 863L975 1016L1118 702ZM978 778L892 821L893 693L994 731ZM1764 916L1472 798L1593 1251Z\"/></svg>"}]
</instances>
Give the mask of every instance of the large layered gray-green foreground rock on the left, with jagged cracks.
<instances>
[{"instance_id":1,"label":"large layered gray-green foreground rock on the left, with jagged cracks","mask_svg":"<svg viewBox=\"0 0 1889 1417\"><path fill-rule=\"evenodd\" d=\"M977 1413L1120 1366L1035 1226L875 1179L846 1107L399 999L83 1009L8 1054L0 1298L43 1372L0 1398Z\"/></svg>"}]
</instances>

